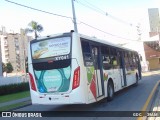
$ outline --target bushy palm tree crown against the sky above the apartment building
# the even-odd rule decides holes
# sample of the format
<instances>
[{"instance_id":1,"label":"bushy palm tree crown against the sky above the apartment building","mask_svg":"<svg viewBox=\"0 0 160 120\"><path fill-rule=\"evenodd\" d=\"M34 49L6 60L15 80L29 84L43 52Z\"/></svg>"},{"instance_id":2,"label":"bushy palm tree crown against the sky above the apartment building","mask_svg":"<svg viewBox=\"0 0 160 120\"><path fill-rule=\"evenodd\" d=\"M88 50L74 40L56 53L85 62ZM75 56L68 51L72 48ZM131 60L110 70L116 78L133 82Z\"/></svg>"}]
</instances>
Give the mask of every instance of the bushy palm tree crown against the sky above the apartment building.
<instances>
[{"instance_id":1,"label":"bushy palm tree crown against the sky above the apartment building","mask_svg":"<svg viewBox=\"0 0 160 120\"><path fill-rule=\"evenodd\" d=\"M35 38L38 37L38 32L42 32L43 31L43 26L38 24L38 22L36 21L31 21L29 24L28 24L28 28L25 29L25 32L26 33L30 33L30 32L34 32L35 34Z\"/></svg>"}]
</instances>

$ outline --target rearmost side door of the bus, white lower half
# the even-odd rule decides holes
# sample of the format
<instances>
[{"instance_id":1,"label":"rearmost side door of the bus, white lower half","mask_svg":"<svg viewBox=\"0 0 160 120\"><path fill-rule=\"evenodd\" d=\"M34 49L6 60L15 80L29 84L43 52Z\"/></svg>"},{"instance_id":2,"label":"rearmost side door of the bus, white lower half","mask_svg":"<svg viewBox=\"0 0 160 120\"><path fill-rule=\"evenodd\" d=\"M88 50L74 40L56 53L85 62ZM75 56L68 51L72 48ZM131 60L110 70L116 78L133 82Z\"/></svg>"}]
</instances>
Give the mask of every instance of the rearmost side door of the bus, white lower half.
<instances>
[{"instance_id":1,"label":"rearmost side door of the bus, white lower half","mask_svg":"<svg viewBox=\"0 0 160 120\"><path fill-rule=\"evenodd\" d=\"M97 98L104 95L104 83L102 82L101 77L101 65L100 65L100 54L99 48L97 46L92 46L92 55L94 61L94 68L95 68L95 81L96 81L96 95Z\"/></svg>"}]
</instances>

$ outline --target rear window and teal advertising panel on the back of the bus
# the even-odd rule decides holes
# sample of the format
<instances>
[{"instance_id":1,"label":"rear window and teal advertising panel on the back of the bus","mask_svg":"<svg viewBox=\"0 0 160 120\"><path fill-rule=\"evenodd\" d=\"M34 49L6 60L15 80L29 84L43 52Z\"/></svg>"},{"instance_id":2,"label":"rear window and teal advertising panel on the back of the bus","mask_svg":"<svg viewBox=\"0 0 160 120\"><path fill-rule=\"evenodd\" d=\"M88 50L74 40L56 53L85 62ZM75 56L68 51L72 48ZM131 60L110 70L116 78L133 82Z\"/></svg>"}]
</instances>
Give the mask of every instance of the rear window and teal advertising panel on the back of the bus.
<instances>
[{"instance_id":1,"label":"rear window and teal advertising panel on the back of the bus","mask_svg":"<svg viewBox=\"0 0 160 120\"><path fill-rule=\"evenodd\" d=\"M37 40L31 44L31 53L39 92L67 92L71 76L71 38Z\"/></svg>"}]
</instances>

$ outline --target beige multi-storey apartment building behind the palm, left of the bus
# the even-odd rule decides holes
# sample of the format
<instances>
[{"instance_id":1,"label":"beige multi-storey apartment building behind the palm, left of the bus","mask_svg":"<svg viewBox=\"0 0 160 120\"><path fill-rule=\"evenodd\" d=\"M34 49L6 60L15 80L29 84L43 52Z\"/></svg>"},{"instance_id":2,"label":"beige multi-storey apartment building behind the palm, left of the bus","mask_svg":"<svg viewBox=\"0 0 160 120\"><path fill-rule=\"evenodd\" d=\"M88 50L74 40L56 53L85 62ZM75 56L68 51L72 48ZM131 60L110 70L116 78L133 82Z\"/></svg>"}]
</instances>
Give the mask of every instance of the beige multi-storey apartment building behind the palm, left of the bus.
<instances>
[{"instance_id":1,"label":"beige multi-storey apartment building behind the palm, left of the bus","mask_svg":"<svg viewBox=\"0 0 160 120\"><path fill-rule=\"evenodd\" d=\"M27 57L27 44L32 37L24 34L24 30L19 33L1 32L1 54L2 62L10 62L13 72L25 72L25 59Z\"/></svg>"}]
</instances>

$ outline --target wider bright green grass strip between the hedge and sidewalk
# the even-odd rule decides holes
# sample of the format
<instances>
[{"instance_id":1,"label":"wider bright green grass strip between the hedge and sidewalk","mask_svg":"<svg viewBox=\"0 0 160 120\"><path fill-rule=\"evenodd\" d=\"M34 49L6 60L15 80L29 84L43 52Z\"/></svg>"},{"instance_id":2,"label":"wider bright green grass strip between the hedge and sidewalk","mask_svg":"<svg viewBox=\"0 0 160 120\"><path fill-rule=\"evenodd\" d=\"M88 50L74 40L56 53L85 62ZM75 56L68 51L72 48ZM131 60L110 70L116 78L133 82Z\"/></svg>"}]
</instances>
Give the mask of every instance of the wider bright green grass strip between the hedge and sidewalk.
<instances>
[{"instance_id":1,"label":"wider bright green grass strip between the hedge and sidewalk","mask_svg":"<svg viewBox=\"0 0 160 120\"><path fill-rule=\"evenodd\" d=\"M21 98L26 98L29 96L30 96L29 91L13 93L13 94L9 94L9 95L3 95L3 96L0 96L0 103L9 102L9 101L17 100L17 99L21 99Z\"/></svg>"}]
</instances>

